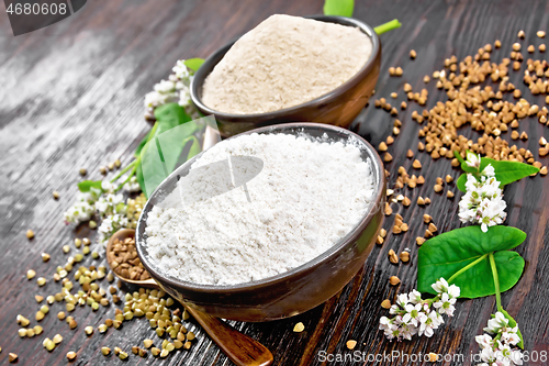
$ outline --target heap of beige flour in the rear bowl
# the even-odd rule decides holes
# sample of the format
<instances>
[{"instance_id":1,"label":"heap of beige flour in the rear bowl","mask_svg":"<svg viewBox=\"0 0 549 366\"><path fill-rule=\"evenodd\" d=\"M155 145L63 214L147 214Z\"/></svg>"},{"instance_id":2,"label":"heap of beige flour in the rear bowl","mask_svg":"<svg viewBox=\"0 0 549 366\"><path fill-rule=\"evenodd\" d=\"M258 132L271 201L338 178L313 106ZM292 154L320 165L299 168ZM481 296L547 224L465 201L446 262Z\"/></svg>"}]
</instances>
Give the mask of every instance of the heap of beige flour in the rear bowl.
<instances>
[{"instance_id":1,"label":"heap of beige flour in the rear bowl","mask_svg":"<svg viewBox=\"0 0 549 366\"><path fill-rule=\"evenodd\" d=\"M202 99L237 114L298 106L349 80L371 53L358 27L272 15L231 47L205 79Z\"/></svg>"}]
</instances>

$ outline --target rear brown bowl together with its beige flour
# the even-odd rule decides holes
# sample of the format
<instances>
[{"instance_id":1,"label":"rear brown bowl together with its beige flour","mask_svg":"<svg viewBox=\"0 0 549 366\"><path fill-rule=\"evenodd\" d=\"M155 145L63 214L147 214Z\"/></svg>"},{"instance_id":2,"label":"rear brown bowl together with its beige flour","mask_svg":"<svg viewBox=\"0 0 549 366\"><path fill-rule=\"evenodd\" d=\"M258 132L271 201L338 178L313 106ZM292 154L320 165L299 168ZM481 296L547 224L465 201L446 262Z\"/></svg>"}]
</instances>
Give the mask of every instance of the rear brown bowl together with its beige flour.
<instances>
[{"instance_id":1,"label":"rear brown bowl together with its beige flour","mask_svg":"<svg viewBox=\"0 0 549 366\"><path fill-rule=\"evenodd\" d=\"M283 122L348 127L378 80L381 44L350 18L272 15L212 54L190 92L223 136Z\"/></svg>"}]
</instances>

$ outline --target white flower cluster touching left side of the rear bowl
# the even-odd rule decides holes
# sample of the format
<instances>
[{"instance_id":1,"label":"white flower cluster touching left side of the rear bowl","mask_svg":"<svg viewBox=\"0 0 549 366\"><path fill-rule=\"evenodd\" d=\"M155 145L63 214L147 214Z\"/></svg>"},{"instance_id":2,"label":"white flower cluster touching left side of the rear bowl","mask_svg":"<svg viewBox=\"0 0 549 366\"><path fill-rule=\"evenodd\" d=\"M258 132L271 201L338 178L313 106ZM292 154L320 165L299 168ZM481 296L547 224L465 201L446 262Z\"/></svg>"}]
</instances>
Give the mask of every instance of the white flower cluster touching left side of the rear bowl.
<instances>
[{"instance_id":1,"label":"white flower cluster touching left side of the rear bowl","mask_svg":"<svg viewBox=\"0 0 549 366\"><path fill-rule=\"evenodd\" d=\"M154 86L154 90L145 95L145 119L155 120L155 109L167 103L179 103L192 118L199 118L198 111L191 103L189 86L192 75L180 59L172 68L173 74L168 80L160 80Z\"/></svg>"}]
</instances>

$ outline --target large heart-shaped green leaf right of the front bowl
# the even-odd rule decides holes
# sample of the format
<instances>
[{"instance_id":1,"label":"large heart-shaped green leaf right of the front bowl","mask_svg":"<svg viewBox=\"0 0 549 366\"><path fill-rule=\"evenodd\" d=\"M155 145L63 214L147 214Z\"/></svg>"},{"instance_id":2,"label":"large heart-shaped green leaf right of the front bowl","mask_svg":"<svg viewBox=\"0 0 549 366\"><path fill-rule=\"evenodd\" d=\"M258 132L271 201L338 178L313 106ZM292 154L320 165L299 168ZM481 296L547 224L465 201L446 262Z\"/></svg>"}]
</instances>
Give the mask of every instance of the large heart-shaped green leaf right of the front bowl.
<instances>
[{"instance_id":1,"label":"large heart-shaped green leaf right of the front bowl","mask_svg":"<svg viewBox=\"0 0 549 366\"><path fill-rule=\"evenodd\" d=\"M417 290L436 293L432 285L440 277L449 279L468 265L471 267L452 282L460 287L462 298L480 298L495 293L489 253L500 275L501 291L511 289L520 278L525 262L512 249L526 239L526 234L511 226L492 226L483 233L480 226L456 229L435 236L419 248ZM478 263L472 265L475 260Z\"/></svg>"}]
</instances>

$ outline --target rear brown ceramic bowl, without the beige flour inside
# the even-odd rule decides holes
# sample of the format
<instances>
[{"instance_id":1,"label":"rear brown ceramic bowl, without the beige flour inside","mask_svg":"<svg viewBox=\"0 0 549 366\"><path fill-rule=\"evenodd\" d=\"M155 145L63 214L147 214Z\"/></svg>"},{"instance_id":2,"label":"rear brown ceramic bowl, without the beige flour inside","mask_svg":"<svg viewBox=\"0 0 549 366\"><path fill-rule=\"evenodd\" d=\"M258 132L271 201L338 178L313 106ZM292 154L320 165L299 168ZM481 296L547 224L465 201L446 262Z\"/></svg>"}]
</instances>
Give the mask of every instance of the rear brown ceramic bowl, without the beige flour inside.
<instances>
[{"instance_id":1,"label":"rear brown ceramic bowl, without the beige flour inside","mask_svg":"<svg viewBox=\"0 0 549 366\"><path fill-rule=\"evenodd\" d=\"M190 86L193 103L204 114L214 114L217 120L221 135L233 136L238 133L269 124L284 122L317 122L334 124L347 129L355 118L368 103L378 81L381 63L381 43L373 29L351 18L313 15L305 16L317 21L338 23L343 25L358 26L372 40L372 54L365 66L348 81L327 95L313 99L309 102L258 114L233 114L212 110L202 103L202 86L204 79L213 70L215 65L223 58L236 40L229 42L214 52L199 68ZM349 49L352 53L352 49Z\"/></svg>"}]
</instances>

